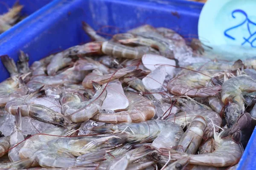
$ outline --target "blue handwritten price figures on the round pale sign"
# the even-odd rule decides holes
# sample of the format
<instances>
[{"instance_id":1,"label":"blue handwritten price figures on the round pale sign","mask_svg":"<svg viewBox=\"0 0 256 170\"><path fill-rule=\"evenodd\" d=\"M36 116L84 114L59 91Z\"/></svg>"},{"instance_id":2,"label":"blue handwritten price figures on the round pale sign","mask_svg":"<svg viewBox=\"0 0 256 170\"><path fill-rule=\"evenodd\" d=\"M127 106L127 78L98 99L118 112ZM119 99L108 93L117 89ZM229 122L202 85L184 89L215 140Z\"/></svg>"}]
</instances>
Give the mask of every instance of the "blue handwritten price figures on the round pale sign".
<instances>
[{"instance_id":1,"label":"blue handwritten price figures on the round pale sign","mask_svg":"<svg viewBox=\"0 0 256 170\"><path fill-rule=\"evenodd\" d=\"M256 26L256 23L253 23L253 22L248 18L246 12L244 12L244 11L241 10L241 9L236 9L236 10L232 11L232 17L233 17L233 18L236 18L235 15L234 15L235 13L237 13L237 14L242 14L242 15L245 17L245 19L244 19L241 23L237 24L236 26L233 26L233 27L230 27L230 28L226 29L226 30L224 31L224 35L225 35L226 37L230 38L231 40L236 40L236 38L232 37L232 36L231 36L230 34L228 34L227 32L230 31L230 30L233 30L233 29L235 29L235 28L238 28L238 27L244 25L244 23L247 22L247 30L248 30L248 33L250 34L250 36L247 37L247 38L243 37L244 42L242 42L241 45L244 45L245 43L249 43L249 44L251 45L251 47L256 48L256 45L253 45L253 42L256 40L256 38L254 38L253 40L250 41L250 39L252 39L252 37L253 37L254 35L256 35L256 31L255 31L254 33L251 32L250 25Z\"/></svg>"}]
</instances>

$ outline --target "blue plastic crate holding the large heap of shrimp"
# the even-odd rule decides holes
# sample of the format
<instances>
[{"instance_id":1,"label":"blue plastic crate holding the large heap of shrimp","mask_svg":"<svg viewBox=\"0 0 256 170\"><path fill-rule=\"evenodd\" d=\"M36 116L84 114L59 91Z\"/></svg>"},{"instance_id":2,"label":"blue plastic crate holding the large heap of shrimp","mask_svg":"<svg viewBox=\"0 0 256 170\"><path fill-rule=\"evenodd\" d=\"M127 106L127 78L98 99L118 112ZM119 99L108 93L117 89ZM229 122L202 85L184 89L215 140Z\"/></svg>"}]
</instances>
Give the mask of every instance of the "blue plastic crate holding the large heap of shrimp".
<instances>
[{"instance_id":1,"label":"blue plastic crate holding the large heap of shrimp","mask_svg":"<svg viewBox=\"0 0 256 170\"><path fill-rule=\"evenodd\" d=\"M90 41L82 21L106 36L150 24L172 28L188 39L197 37L203 3L184 0L55 0L0 35L0 55L17 61L18 51L29 54L30 64L54 52ZM9 77L0 63L0 82ZM239 169L256 169L256 130L246 147Z\"/></svg>"}]
</instances>

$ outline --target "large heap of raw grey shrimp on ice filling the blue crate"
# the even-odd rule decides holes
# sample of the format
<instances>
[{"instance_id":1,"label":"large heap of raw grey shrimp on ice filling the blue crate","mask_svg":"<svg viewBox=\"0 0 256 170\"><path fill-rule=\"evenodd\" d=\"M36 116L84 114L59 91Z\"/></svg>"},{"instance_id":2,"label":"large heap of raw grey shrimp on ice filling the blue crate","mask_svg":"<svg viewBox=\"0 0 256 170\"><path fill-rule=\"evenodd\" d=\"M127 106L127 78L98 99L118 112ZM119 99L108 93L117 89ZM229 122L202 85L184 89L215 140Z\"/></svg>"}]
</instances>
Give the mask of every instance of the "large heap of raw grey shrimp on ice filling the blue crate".
<instances>
[{"instance_id":1,"label":"large heap of raw grey shrimp on ice filling the blue crate","mask_svg":"<svg viewBox=\"0 0 256 170\"><path fill-rule=\"evenodd\" d=\"M29 170L235 169L256 118L256 59L216 61L169 28L149 25L30 67L20 51L0 83L0 168ZM193 63L188 63L193 61ZM24 136L22 117L53 127ZM1 117L0 117L1 119Z\"/></svg>"}]
</instances>

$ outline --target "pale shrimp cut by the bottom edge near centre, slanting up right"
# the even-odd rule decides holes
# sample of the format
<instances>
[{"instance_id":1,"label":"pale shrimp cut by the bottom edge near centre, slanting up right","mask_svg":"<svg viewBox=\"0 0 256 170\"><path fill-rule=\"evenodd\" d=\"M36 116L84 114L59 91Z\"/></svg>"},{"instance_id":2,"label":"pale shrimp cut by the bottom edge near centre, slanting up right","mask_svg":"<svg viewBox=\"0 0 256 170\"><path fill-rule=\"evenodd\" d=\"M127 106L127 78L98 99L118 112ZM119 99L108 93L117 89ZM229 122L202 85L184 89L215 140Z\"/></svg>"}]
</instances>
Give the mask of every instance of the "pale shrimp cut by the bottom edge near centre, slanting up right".
<instances>
[{"instance_id":1,"label":"pale shrimp cut by the bottom edge near centre, slanting up right","mask_svg":"<svg viewBox=\"0 0 256 170\"><path fill-rule=\"evenodd\" d=\"M108 164L106 170L126 170L129 164L142 158L143 156L148 155L148 153L151 153L152 151L153 149L150 147L137 147L136 149L130 150L122 156L113 159Z\"/></svg>"}]
</instances>

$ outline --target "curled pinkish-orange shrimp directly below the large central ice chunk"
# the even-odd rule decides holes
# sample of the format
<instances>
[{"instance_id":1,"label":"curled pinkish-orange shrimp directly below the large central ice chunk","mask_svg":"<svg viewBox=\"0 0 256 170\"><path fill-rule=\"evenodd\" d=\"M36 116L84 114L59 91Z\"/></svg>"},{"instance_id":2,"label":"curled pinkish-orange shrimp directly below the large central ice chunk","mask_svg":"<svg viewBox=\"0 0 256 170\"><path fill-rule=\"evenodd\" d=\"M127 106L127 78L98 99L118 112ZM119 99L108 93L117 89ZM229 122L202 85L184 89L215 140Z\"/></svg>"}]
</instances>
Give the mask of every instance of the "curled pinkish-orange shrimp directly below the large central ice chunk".
<instances>
[{"instance_id":1,"label":"curled pinkish-orange shrimp directly below the large central ice chunk","mask_svg":"<svg viewBox=\"0 0 256 170\"><path fill-rule=\"evenodd\" d=\"M125 111L117 113L98 113L92 120L97 122L124 123L124 122L143 122L154 117L156 110L154 104L143 96L134 93L125 93L129 100L129 105Z\"/></svg>"}]
</instances>

